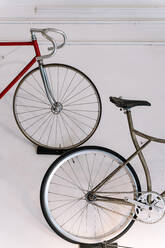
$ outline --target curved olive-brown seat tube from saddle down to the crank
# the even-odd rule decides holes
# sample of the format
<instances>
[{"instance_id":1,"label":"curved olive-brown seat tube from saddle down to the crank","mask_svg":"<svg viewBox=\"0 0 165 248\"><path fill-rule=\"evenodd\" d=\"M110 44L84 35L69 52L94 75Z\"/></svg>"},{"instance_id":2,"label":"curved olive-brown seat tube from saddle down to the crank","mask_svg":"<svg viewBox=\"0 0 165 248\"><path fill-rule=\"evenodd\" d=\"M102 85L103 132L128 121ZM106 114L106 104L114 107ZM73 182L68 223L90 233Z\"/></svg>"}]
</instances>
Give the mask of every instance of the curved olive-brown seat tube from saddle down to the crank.
<instances>
[{"instance_id":1,"label":"curved olive-brown seat tube from saddle down to the crank","mask_svg":"<svg viewBox=\"0 0 165 248\"><path fill-rule=\"evenodd\" d=\"M127 120L128 120L131 138L132 138L133 144L135 146L135 149L138 150L138 149L140 149L140 146L139 146L139 143L137 141L136 134L134 133L134 126L133 126L131 111L126 110L126 114L127 114ZM150 175L150 171L148 169L147 162L144 158L142 151L140 151L138 153L138 156L139 156L139 159L142 163L142 166L143 166L143 169L145 172L145 177L146 177L146 182L147 182L147 191L152 191L151 175Z\"/></svg>"}]
</instances>

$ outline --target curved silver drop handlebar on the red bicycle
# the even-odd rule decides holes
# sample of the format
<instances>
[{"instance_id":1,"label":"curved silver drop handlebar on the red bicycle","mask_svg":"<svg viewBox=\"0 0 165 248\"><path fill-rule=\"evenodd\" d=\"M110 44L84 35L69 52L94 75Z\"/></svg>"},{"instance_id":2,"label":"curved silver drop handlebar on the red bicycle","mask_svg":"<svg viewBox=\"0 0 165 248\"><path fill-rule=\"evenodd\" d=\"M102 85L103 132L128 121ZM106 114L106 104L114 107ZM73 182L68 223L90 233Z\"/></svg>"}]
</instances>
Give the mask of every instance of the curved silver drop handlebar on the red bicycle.
<instances>
[{"instance_id":1,"label":"curved silver drop handlebar on the red bicycle","mask_svg":"<svg viewBox=\"0 0 165 248\"><path fill-rule=\"evenodd\" d=\"M47 55L39 56L36 58L37 60L42 60L42 59L51 57L53 54L56 53L57 49L62 48L66 43L67 37L66 37L66 34L62 30L59 30L56 28L45 28L45 29L32 28L30 31L31 31L32 36L34 35L34 33L41 33L42 36L48 41L50 41L53 45L53 47L48 49L48 50L53 50L51 53ZM54 33L62 35L62 38L63 38L62 43L58 45L56 41L54 40L54 38L52 38L50 35L47 34L48 32L54 32Z\"/></svg>"}]
</instances>

